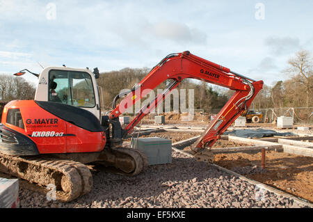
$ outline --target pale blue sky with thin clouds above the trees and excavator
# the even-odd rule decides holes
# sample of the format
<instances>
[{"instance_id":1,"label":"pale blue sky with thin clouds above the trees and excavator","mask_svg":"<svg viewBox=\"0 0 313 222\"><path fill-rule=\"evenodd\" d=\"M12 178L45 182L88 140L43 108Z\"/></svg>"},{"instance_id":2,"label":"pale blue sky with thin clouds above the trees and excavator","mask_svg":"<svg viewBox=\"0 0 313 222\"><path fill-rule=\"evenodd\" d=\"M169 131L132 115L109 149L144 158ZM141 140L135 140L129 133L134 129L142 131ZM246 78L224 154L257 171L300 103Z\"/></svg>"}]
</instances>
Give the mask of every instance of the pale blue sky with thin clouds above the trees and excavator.
<instances>
[{"instance_id":1,"label":"pale blue sky with thin clouds above the trees and excavator","mask_svg":"<svg viewBox=\"0 0 313 222\"><path fill-rule=\"evenodd\" d=\"M297 51L313 52L312 8L301 0L0 0L0 74L152 68L188 50L273 85L289 78L282 70Z\"/></svg>"}]
</instances>

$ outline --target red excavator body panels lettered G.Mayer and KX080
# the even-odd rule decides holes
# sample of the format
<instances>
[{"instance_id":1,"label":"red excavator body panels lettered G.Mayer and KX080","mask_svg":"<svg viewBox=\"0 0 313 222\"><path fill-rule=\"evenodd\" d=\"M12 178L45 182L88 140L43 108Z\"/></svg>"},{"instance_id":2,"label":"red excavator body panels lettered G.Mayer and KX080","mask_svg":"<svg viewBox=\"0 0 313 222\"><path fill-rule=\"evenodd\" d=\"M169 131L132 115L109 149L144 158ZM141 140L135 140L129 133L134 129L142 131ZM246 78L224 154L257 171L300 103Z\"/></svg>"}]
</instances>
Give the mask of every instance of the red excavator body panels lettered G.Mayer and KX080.
<instances>
[{"instance_id":1,"label":"red excavator body panels lettered G.Mayer and KX080","mask_svg":"<svg viewBox=\"0 0 313 222\"><path fill-rule=\"evenodd\" d=\"M71 109L82 110L74 106ZM17 100L6 104L1 122L2 131L23 134L35 143L40 154L99 152L106 143L103 130L90 132L83 129L74 122L68 122L63 116L56 116L43 109L34 100Z\"/></svg>"}]
</instances>

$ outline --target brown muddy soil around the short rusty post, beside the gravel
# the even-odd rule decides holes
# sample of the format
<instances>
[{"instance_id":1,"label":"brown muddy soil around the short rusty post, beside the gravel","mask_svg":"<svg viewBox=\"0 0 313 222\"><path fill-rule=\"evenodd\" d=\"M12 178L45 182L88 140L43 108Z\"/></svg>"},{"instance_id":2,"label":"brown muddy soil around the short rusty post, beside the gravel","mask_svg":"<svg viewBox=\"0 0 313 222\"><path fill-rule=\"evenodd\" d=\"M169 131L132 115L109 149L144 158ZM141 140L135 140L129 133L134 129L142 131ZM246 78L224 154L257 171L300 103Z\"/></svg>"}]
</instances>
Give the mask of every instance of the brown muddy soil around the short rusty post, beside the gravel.
<instances>
[{"instance_id":1,"label":"brown muddy soil around the short rusty post, beside the gravel","mask_svg":"<svg viewBox=\"0 0 313 222\"><path fill-rule=\"evenodd\" d=\"M236 167L260 167L261 152L216 154L214 162L230 170ZM313 202L313 157L267 151L266 171L246 177Z\"/></svg>"}]
</instances>

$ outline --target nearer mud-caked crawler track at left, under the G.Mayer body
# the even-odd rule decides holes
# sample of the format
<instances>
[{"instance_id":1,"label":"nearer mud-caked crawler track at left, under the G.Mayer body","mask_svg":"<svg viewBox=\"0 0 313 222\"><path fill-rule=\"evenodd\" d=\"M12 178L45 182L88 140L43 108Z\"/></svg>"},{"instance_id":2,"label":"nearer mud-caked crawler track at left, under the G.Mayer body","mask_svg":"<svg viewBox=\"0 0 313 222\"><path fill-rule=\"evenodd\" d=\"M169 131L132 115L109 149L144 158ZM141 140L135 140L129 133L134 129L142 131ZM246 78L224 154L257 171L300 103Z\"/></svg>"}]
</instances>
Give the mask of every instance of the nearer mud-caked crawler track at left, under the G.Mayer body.
<instances>
[{"instance_id":1,"label":"nearer mud-caked crawler track at left, under the G.Mayer body","mask_svg":"<svg viewBox=\"0 0 313 222\"><path fill-rule=\"evenodd\" d=\"M88 193L93 177L84 164L52 157L17 157L0 153L0 171L47 187L56 186L56 200L69 202Z\"/></svg>"}]
</instances>

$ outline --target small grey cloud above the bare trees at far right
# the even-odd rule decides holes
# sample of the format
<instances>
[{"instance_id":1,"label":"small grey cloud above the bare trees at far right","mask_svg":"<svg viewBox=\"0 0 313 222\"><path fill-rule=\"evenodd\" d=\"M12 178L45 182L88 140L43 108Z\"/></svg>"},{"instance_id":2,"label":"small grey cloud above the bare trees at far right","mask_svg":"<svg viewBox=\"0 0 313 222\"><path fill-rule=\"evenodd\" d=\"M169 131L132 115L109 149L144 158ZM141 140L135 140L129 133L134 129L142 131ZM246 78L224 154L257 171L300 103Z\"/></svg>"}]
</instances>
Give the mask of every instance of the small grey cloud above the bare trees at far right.
<instances>
[{"instance_id":1,"label":"small grey cloud above the bare trees at far right","mask_svg":"<svg viewBox=\"0 0 313 222\"><path fill-rule=\"evenodd\" d=\"M275 37L271 36L265 39L265 45L270 48L271 53L280 56L294 52L300 47L300 40L291 37Z\"/></svg>"}]
</instances>

